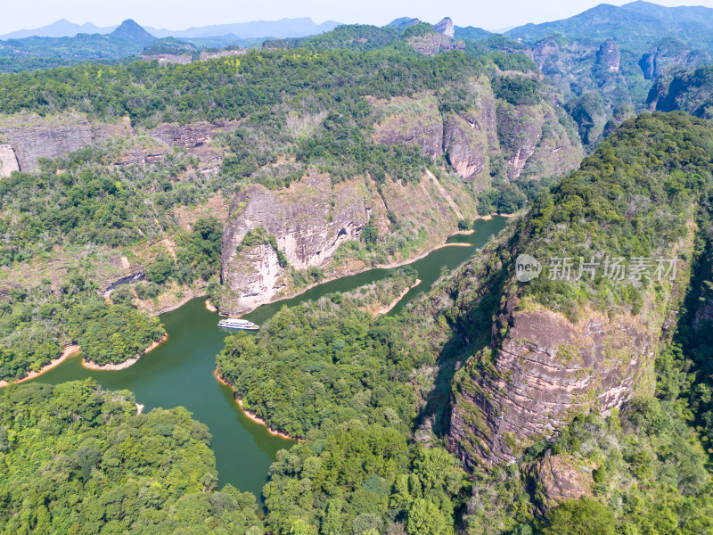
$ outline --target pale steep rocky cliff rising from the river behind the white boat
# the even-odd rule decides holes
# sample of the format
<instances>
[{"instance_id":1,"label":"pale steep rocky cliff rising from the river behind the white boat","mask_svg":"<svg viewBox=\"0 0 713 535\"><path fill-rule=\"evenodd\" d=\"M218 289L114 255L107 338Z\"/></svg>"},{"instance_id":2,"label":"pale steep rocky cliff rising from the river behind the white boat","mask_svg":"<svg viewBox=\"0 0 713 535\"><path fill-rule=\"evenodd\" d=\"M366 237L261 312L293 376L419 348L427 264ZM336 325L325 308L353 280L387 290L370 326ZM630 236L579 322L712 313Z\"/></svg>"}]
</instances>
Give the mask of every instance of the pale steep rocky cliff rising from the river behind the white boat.
<instances>
[{"instance_id":1,"label":"pale steep rocky cliff rising from the river behind the white boat","mask_svg":"<svg viewBox=\"0 0 713 535\"><path fill-rule=\"evenodd\" d=\"M472 202L466 185L446 179L442 183L430 173L417 184L389 179L376 185L355 177L332 185L328 175L312 169L289 188L248 185L235 196L225 225L221 312L241 314L291 294L293 270L320 268L325 276L340 276L413 258L442 243L460 218L474 217ZM338 255L340 246L358 243L370 222L383 243L381 253ZM275 236L287 265L280 266L277 251L268 243L242 246L245 235L259 227Z\"/></svg>"}]
</instances>

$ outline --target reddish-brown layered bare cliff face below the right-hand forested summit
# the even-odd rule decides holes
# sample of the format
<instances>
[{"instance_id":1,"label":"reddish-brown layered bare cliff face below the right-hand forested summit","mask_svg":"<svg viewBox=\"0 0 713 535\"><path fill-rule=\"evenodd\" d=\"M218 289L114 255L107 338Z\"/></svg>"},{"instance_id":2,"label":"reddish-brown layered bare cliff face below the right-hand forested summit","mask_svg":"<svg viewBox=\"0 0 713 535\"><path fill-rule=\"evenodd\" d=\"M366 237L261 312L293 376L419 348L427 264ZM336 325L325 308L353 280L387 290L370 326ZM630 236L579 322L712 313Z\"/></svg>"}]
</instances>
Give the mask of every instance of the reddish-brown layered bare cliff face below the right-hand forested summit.
<instances>
[{"instance_id":1,"label":"reddish-brown layered bare cliff face below the right-hand forested summit","mask_svg":"<svg viewBox=\"0 0 713 535\"><path fill-rule=\"evenodd\" d=\"M493 327L495 334L510 324L493 369L474 367L455 393L448 445L469 466L514 462L574 412L620 407L649 379L655 341L640 318L593 314L574 325L515 306Z\"/></svg>"}]
</instances>

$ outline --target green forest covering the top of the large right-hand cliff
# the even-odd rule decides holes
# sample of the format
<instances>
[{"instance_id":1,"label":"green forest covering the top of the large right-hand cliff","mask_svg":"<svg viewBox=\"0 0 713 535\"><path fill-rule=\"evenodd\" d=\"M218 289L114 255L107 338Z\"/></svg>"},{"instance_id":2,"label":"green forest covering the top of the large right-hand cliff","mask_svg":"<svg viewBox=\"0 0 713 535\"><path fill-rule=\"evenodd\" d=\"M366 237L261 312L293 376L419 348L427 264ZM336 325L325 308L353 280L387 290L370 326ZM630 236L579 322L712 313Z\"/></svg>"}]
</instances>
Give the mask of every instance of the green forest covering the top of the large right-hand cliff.
<instances>
[{"instance_id":1,"label":"green forest covering the top of the large right-hand cliff","mask_svg":"<svg viewBox=\"0 0 713 535\"><path fill-rule=\"evenodd\" d=\"M652 262L669 258L670 244L684 238L694 207L710 190L711 153L705 121L683 113L629 119L578 171L537 197L523 251L545 261L562 256L591 261L602 252ZM537 278L525 295L578 317L588 305L638 313L647 292L667 291L668 281L655 277L638 277L622 289L603 275L582 277L577 284Z\"/></svg>"}]
</instances>

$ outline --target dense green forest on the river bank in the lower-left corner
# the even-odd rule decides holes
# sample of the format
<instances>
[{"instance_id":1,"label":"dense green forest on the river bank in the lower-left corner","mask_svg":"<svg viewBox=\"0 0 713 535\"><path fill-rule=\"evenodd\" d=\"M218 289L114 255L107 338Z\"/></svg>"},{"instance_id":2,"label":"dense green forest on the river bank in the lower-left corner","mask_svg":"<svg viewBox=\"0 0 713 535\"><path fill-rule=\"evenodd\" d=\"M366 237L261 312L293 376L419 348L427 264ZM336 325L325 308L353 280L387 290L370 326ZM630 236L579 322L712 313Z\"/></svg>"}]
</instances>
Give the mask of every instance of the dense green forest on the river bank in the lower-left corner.
<instances>
[{"instance_id":1,"label":"dense green forest on the river bank in the lower-left corner","mask_svg":"<svg viewBox=\"0 0 713 535\"><path fill-rule=\"evenodd\" d=\"M209 445L184 408L137 415L128 391L91 381L7 387L0 531L262 533L254 496L216 491Z\"/></svg>"}]
</instances>

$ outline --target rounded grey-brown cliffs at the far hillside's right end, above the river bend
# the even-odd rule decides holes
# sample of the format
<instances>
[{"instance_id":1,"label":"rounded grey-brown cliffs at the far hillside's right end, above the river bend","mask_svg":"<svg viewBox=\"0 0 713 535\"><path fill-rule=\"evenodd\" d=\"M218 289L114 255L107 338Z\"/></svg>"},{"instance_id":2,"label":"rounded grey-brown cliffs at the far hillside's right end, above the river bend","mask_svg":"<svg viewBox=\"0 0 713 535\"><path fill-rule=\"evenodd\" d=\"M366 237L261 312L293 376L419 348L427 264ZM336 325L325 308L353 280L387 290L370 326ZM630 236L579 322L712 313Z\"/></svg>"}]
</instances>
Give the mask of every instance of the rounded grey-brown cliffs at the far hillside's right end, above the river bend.
<instances>
[{"instance_id":1,"label":"rounded grey-brown cliffs at the far hillside's right end, above the river bend","mask_svg":"<svg viewBox=\"0 0 713 535\"><path fill-rule=\"evenodd\" d=\"M506 176L525 172L539 178L578 165L583 153L561 127L549 103L513 106L497 101L486 79L473 80L465 111L438 110L434 95L371 99L379 112L374 139L382 144L418 144L431 157L446 155L459 177L477 191L490 183L494 159L504 159Z\"/></svg>"}]
</instances>

